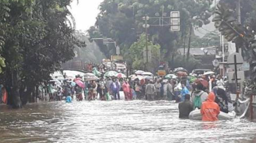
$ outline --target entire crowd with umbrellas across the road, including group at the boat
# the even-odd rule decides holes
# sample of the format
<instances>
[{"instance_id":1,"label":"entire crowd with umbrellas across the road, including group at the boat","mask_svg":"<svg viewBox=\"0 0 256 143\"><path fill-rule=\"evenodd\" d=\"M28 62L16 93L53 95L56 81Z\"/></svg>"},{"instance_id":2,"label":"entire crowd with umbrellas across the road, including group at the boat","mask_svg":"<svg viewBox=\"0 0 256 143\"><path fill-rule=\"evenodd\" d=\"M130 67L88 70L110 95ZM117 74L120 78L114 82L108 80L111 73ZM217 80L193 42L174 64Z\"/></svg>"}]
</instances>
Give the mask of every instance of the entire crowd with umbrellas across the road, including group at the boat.
<instances>
[{"instance_id":1,"label":"entire crowd with umbrellas across the road, including group at the boat","mask_svg":"<svg viewBox=\"0 0 256 143\"><path fill-rule=\"evenodd\" d=\"M63 81L50 80L41 83L39 99L44 101L72 100L169 100L179 103L180 118L188 118L191 111L200 109L203 120L216 121L220 111L228 113L234 110L230 93L226 91L223 79L215 75L177 76L164 78L150 76L143 78L118 78L101 76L98 80L75 79ZM3 100L2 100L3 101ZM5 99L6 102L6 99Z\"/></svg>"}]
</instances>

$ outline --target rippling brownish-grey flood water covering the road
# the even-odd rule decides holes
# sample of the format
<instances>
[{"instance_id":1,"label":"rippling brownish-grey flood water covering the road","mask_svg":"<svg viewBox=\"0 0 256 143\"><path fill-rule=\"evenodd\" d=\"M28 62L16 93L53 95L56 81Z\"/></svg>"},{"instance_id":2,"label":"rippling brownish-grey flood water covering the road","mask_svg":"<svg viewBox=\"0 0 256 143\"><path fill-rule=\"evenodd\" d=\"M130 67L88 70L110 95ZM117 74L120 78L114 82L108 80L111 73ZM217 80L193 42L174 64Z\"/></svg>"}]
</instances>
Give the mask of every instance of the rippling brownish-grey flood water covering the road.
<instances>
[{"instance_id":1,"label":"rippling brownish-grey flood water covering the road","mask_svg":"<svg viewBox=\"0 0 256 143\"><path fill-rule=\"evenodd\" d=\"M177 106L168 101L0 106L0 143L256 143L256 123L181 120Z\"/></svg>"}]
</instances>

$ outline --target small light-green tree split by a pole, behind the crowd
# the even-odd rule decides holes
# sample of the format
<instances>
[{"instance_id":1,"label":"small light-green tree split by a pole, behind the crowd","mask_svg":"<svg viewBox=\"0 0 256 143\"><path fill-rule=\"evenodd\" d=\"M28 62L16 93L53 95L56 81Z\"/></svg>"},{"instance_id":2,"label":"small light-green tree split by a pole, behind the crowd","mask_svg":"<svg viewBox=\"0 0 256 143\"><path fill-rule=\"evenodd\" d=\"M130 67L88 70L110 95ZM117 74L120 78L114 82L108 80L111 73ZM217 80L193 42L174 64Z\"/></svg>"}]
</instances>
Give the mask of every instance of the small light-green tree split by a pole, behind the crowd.
<instances>
[{"instance_id":1,"label":"small light-green tree split by a pole, behind the crowd","mask_svg":"<svg viewBox=\"0 0 256 143\"><path fill-rule=\"evenodd\" d=\"M123 52L125 54L125 59L132 59L133 69L144 69L143 49L145 47L146 35L142 34L138 42L134 42L127 52ZM160 45L148 41L148 49L151 51L152 63L150 63L147 68L156 69L160 60Z\"/></svg>"}]
</instances>

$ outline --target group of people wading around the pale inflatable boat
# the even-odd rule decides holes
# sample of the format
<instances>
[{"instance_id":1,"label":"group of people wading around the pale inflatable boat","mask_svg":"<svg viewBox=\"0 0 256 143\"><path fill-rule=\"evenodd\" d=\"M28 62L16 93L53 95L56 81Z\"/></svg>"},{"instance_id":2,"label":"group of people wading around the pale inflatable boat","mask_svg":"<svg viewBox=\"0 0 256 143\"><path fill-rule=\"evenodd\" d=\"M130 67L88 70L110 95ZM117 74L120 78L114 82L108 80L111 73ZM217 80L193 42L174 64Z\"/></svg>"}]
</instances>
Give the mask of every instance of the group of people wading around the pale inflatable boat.
<instances>
[{"instance_id":1,"label":"group of people wading around the pale inflatable boat","mask_svg":"<svg viewBox=\"0 0 256 143\"><path fill-rule=\"evenodd\" d=\"M184 101L179 103L180 118L188 118L191 111L200 109L203 121L217 121L220 111L229 113L234 111L234 103L230 92L227 92L223 79L214 75L198 76L191 87L181 91ZM208 83L207 86L203 83Z\"/></svg>"}]
</instances>

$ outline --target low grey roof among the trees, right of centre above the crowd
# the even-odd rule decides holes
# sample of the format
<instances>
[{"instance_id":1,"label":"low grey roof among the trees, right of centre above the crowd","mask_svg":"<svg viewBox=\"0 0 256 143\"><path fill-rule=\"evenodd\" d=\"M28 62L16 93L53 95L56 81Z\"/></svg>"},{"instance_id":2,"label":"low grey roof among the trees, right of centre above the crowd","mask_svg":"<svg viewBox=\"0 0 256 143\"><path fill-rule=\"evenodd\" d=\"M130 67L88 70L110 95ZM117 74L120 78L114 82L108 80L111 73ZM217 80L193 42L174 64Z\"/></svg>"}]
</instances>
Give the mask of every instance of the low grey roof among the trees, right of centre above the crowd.
<instances>
[{"instance_id":1,"label":"low grey roof among the trees, right of centre above the crowd","mask_svg":"<svg viewBox=\"0 0 256 143\"><path fill-rule=\"evenodd\" d=\"M187 54L188 48L185 48L185 54ZM179 48L178 52L184 54L184 48ZM204 51L201 48L190 48L191 55L205 55ZM208 49L207 55L216 55L216 49Z\"/></svg>"}]
</instances>

